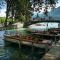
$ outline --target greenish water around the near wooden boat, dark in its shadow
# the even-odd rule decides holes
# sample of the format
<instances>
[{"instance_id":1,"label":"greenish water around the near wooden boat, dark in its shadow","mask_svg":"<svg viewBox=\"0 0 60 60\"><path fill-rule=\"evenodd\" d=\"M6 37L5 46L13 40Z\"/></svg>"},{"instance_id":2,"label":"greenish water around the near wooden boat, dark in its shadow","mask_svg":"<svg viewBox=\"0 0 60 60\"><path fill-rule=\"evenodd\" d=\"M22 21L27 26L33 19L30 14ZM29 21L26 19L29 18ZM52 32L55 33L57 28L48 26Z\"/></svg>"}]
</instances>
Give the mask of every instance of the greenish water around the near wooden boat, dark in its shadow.
<instances>
[{"instance_id":1,"label":"greenish water around the near wooden boat, dark in its shadow","mask_svg":"<svg viewBox=\"0 0 60 60\"><path fill-rule=\"evenodd\" d=\"M12 44L10 42L4 41L4 34L21 33L23 35L27 34L23 29L21 30L9 30L9 31L0 31L0 60L40 60L45 53L45 50L42 48L36 48L30 46L21 45L18 47L18 44Z\"/></svg>"}]
</instances>

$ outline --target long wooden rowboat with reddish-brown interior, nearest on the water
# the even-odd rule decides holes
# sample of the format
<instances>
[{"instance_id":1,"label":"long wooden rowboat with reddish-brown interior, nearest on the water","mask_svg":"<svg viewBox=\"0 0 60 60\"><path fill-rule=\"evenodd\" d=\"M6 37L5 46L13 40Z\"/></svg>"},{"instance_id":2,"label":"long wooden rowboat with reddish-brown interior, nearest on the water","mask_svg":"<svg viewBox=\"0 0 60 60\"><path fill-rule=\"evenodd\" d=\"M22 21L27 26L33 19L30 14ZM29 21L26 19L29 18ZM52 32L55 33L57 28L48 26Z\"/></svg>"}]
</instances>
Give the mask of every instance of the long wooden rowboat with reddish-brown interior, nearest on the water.
<instances>
[{"instance_id":1,"label":"long wooden rowboat with reddish-brown interior, nearest on the water","mask_svg":"<svg viewBox=\"0 0 60 60\"><path fill-rule=\"evenodd\" d=\"M9 36L5 35L5 40L13 43L18 43L20 42L25 45L30 45L35 46L35 47L40 47L40 48L47 48L49 49L51 47L51 41L50 40L33 40L32 36L20 36L20 35L15 35L15 36Z\"/></svg>"}]
</instances>

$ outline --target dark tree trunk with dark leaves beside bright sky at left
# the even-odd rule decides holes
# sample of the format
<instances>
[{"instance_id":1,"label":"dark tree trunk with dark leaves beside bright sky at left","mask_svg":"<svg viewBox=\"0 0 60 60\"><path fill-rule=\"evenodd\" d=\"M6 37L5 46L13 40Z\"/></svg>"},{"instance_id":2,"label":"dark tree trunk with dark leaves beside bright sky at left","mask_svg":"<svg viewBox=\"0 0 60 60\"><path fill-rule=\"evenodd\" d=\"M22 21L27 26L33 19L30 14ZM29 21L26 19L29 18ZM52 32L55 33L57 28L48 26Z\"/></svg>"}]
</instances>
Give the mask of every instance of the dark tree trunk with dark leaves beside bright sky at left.
<instances>
[{"instance_id":1,"label":"dark tree trunk with dark leaves beside bright sky at left","mask_svg":"<svg viewBox=\"0 0 60 60\"><path fill-rule=\"evenodd\" d=\"M6 19L5 19L5 26L7 26L7 19L9 17L9 12L11 12L11 17L12 17L12 21L13 21L13 16L14 16L14 0L5 0L7 7L6 7Z\"/></svg>"}]
</instances>

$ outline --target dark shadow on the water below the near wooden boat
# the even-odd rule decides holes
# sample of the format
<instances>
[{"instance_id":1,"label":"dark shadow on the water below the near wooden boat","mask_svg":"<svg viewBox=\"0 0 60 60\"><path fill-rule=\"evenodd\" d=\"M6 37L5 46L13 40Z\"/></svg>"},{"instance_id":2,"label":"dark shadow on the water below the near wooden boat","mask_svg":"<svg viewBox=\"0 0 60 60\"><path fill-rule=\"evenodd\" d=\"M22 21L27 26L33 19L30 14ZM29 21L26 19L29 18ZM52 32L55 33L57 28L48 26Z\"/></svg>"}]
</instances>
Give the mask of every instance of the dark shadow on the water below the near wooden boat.
<instances>
[{"instance_id":1,"label":"dark shadow on the water below the near wooden boat","mask_svg":"<svg viewBox=\"0 0 60 60\"><path fill-rule=\"evenodd\" d=\"M31 46L21 45L20 49L18 44L13 43L5 45L5 50L10 53L10 60L40 60L45 54L45 50L42 48L33 47L34 51L32 51Z\"/></svg>"}]
</instances>

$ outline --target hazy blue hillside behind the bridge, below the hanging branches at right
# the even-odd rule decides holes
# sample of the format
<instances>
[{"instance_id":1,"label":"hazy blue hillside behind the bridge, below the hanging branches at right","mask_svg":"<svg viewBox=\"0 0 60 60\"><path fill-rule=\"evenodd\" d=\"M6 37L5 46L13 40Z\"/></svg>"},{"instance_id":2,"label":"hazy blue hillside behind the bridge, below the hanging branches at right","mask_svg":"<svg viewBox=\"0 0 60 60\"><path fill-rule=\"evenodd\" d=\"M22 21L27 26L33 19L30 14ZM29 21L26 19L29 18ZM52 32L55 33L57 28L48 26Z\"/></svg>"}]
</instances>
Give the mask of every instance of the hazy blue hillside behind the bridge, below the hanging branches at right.
<instances>
[{"instance_id":1,"label":"hazy blue hillside behind the bridge, below the hanging branches at right","mask_svg":"<svg viewBox=\"0 0 60 60\"><path fill-rule=\"evenodd\" d=\"M54 20L60 20L60 7L55 8L54 10L49 12L48 16L51 16ZM39 12L34 12L32 18L48 18L48 16L44 15L43 13L41 14Z\"/></svg>"}]
</instances>

